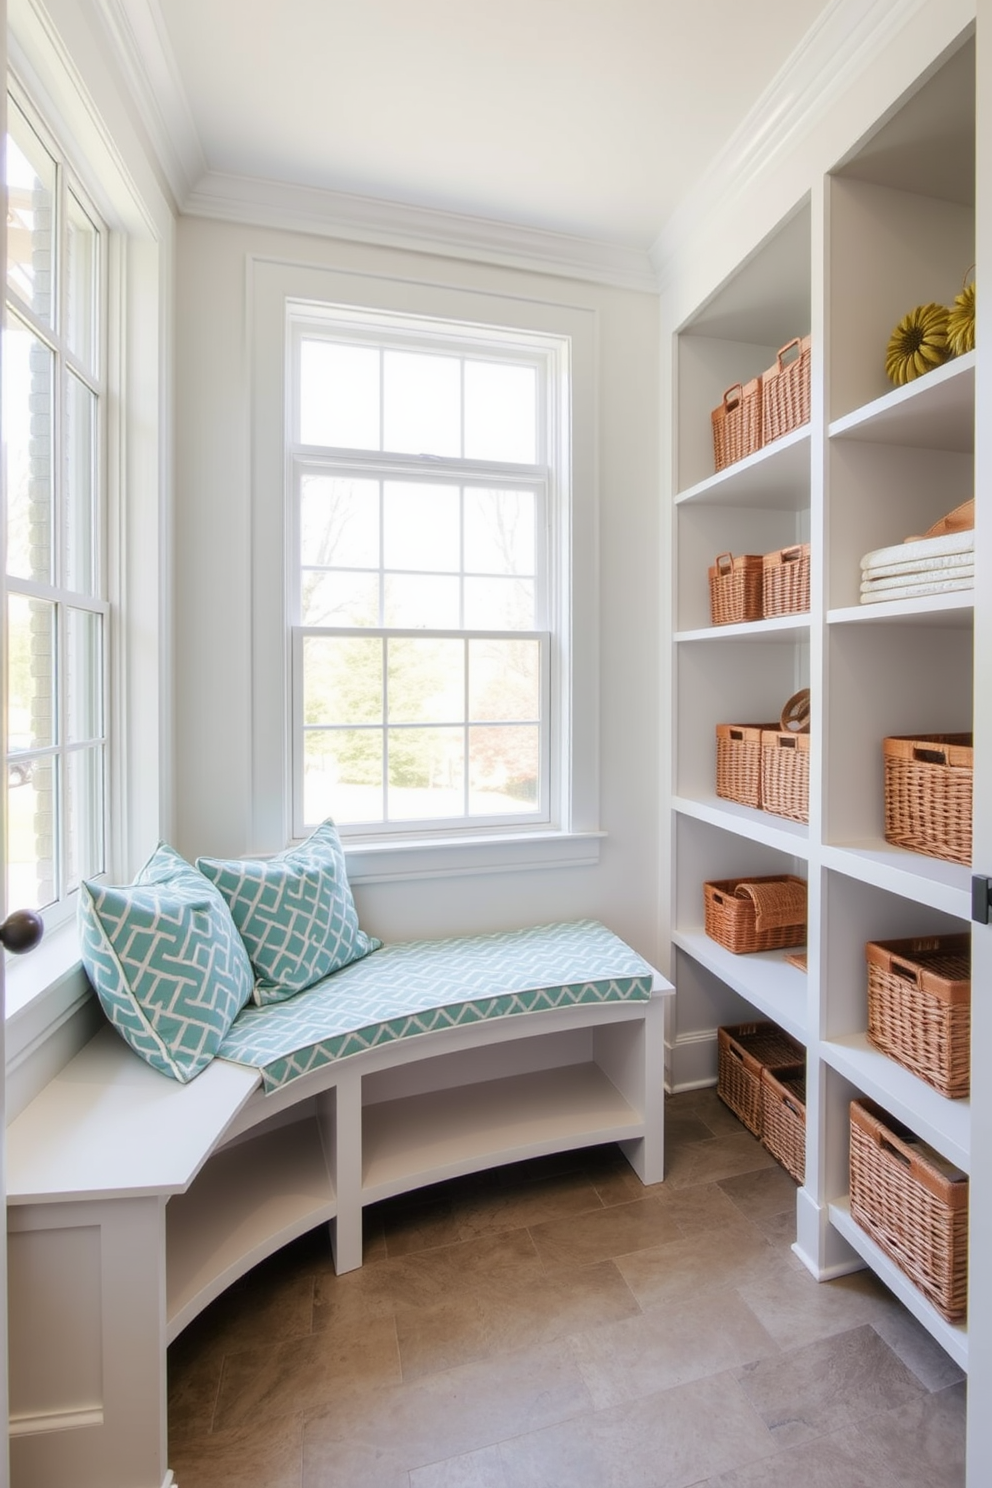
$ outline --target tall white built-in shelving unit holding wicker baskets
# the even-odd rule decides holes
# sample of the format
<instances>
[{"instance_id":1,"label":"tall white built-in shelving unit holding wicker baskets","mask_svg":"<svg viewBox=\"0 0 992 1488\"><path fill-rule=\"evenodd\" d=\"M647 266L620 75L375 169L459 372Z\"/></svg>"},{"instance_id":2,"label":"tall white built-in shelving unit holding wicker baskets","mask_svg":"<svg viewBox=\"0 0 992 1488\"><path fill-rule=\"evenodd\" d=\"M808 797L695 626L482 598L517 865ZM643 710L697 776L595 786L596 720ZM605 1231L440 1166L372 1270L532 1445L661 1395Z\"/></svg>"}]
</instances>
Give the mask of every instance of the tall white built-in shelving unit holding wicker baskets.
<instances>
[{"instance_id":1,"label":"tall white built-in shelving unit holding wicker baskets","mask_svg":"<svg viewBox=\"0 0 992 1488\"><path fill-rule=\"evenodd\" d=\"M885 842L882 740L976 726L980 586L872 606L858 597L863 554L922 534L974 494L976 353L903 388L883 369L897 321L913 305L950 304L974 259L965 34L824 162L696 308L672 314L675 1042L759 1015L806 1046L796 1248L821 1280L875 1269L962 1366L970 1327L946 1323L858 1229L848 1165L849 1103L864 1095L973 1171L971 1103L946 1100L867 1040L864 943L970 927L971 869ZM714 475L709 414L724 388L811 332L811 421ZM809 615L709 623L706 568L718 554L797 542L811 543ZM814 704L809 826L714 790L715 725L776 719L800 686ZM700 927L705 879L769 872L809 882L808 975L784 952L732 955ZM711 1068L715 1079L715 1049Z\"/></svg>"}]
</instances>

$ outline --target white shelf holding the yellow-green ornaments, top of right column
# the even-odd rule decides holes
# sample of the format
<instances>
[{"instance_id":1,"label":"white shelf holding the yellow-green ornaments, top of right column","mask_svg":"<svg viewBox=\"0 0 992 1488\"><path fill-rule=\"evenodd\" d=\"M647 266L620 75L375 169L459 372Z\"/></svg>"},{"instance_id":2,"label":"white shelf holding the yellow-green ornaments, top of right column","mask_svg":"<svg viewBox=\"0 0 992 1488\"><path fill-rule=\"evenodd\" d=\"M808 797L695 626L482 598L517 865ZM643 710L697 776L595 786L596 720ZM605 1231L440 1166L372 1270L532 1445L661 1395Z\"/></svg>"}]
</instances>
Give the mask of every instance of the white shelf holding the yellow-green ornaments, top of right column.
<instances>
[{"instance_id":1,"label":"white shelf holding the yellow-green ornaments, top of right column","mask_svg":"<svg viewBox=\"0 0 992 1488\"><path fill-rule=\"evenodd\" d=\"M974 368L976 353L968 351L836 418L830 437L970 454L974 449Z\"/></svg>"}]
</instances>

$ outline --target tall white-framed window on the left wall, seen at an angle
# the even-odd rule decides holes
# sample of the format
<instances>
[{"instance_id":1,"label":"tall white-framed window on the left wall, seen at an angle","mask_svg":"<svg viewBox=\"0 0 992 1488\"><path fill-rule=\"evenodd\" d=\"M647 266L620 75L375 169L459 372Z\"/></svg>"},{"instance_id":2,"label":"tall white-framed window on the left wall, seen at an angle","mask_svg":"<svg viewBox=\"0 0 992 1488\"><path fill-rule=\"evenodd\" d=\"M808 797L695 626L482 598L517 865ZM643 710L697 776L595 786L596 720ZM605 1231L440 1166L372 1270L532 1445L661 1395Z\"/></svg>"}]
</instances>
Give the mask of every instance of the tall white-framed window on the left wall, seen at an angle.
<instances>
[{"instance_id":1,"label":"tall white-framed window on the left wall, seen at an angle","mask_svg":"<svg viewBox=\"0 0 992 1488\"><path fill-rule=\"evenodd\" d=\"M7 903L58 918L106 868L106 231L15 98L6 162Z\"/></svg>"}]
</instances>

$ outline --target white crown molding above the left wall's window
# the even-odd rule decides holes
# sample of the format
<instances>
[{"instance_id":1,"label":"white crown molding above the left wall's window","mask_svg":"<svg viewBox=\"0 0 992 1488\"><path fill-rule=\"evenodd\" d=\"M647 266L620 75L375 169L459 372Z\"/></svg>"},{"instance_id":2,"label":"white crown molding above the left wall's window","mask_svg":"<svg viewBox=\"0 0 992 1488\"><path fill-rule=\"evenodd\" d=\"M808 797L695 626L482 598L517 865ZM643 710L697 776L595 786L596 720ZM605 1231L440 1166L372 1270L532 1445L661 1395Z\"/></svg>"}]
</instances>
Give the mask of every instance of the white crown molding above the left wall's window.
<instances>
[{"instance_id":1,"label":"white crown molding above the left wall's window","mask_svg":"<svg viewBox=\"0 0 992 1488\"><path fill-rule=\"evenodd\" d=\"M94 4L156 159L181 208L192 186L207 171L207 156L158 0L94 0Z\"/></svg>"}]
</instances>

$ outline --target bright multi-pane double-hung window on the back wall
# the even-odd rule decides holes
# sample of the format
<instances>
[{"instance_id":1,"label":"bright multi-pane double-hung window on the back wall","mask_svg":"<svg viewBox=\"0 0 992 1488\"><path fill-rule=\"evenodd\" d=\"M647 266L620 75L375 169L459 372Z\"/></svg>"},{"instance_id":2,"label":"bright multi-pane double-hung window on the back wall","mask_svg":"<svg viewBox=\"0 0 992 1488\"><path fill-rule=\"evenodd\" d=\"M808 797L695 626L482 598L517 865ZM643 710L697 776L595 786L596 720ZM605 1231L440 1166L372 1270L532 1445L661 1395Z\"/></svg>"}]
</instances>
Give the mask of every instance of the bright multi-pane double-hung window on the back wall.
<instances>
[{"instance_id":1,"label":"bright multi-pane double-hung window on the back wall","mask_svg":"<svg viewBox=\"0 0 992 1488\"><path fill-rule=\"evenodd\" d=\"M289 329L294 835L556 824L567 341Z\"/></svg>"}]
</instances>

